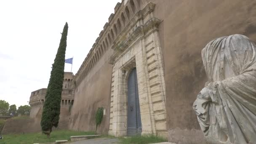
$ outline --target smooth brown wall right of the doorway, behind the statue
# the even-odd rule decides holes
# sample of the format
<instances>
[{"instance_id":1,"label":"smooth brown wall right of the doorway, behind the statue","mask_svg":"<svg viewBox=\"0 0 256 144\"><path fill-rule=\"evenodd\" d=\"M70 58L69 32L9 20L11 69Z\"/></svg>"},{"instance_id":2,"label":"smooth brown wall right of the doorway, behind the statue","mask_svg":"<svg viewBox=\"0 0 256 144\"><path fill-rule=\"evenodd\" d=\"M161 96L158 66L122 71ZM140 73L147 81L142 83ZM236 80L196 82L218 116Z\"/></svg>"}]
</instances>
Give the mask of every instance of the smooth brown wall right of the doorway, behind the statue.
<instances>
[{"instance_id":1,"label":"smooth brown wall right of the doorway, behind the statue","mask_svg":"<svg viewBox=\"0 0 256 144\"><path fill-rule=\"evenodd\" d=\"M165 65L169 141L204 144L192 109L207 81L201 50L211 40L243 34L256 41L255 0L147 0L156 4Z\"/></svg>"}]
</instances>

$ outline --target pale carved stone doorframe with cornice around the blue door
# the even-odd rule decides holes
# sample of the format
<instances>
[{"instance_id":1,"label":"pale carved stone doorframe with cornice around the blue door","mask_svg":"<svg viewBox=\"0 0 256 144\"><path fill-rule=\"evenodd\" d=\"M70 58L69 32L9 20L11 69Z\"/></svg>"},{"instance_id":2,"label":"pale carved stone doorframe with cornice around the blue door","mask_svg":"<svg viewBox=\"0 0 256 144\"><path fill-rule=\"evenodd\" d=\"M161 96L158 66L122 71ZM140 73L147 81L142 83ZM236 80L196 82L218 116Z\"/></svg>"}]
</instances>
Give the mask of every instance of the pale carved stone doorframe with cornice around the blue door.
<instances>
[{"instance_id":1,"label":"pale carved stone doorframe with cornice around the blue door","mask_svg":"<svg viewBox=\"0 0 256 144\"><path fill-rule=\"evenodd\" d=\"M166 136L165 83L163 58L158 36L160 20L153 16L155 5L149 3L133 17L134 27L117 37L109 59L113 64L109 134L127 134L127 78L136 67L141 126L143 134Z\"/></svg>"}]
</instances>

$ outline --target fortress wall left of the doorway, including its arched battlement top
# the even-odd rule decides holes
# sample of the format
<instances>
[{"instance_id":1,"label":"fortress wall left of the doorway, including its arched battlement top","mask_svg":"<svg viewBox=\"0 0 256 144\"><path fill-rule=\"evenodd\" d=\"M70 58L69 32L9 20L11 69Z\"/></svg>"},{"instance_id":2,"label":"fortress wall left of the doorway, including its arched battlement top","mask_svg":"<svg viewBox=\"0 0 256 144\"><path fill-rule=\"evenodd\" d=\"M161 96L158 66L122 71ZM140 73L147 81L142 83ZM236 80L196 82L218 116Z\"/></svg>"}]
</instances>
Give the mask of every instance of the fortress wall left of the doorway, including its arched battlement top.
<instances>
[{"instance_id":1,"label":"fortress wall left of the doorway, including its arched battlement top","mask_svg":"<svg viewBox=\"0 0 256 144\"><path fill-rule=\"evenodd\" d=\"M118 111L118 108L113 109L113 82L115 81L114 77L117 77L114 76L113 57L119 54L115 52L115 55L113 49L117 40L125 41L127 37L132 36L136 26L139 26L137 17L141 13L138 12L147 4L143 0L130 0L126 3L126 6L124 2L117 3L115 13L109 16L109 21L104 25L99 37L75 75L75 80L72 83L72 88L75 89L75 101L69 123L70 129L78 131L94 130L96 126L95 112L98 107L104 107L106 113L98 131L107 133L115 128L115 136L124 134L119 133L124 130L116 129L117 125L124 125L124 122L115 122L116 126L112 127L113 115ZM151 11L150 6L147 8L144 9L145 15ZM138 24L134 25L134 22ZM116 96L118 97L118 94ZM115 104L117 103L115 101ZM122 114L116 115L120 116Z\"/></svg>"}]
</instances>

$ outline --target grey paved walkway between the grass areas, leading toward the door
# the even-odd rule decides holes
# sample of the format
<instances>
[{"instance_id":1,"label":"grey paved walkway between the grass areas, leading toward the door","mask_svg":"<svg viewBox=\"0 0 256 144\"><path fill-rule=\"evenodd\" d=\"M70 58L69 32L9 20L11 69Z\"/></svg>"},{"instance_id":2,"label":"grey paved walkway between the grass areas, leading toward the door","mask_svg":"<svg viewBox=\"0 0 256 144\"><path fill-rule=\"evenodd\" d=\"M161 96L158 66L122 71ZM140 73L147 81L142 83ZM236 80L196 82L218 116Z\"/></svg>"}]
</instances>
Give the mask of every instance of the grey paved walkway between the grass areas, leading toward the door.
<instances>
[{"instance_id":1,"label":"grey paved walkway between the grass areas, leading toward the door","mask_svg":"<svg viewBox=\"0 0 256 144\"><path fill-rule=\"evenodd\" d=\"M96 139L87 139L83 141L75 141L69 144L118 144L118 139L96 138Z\"/></svg>"}]
</instances>

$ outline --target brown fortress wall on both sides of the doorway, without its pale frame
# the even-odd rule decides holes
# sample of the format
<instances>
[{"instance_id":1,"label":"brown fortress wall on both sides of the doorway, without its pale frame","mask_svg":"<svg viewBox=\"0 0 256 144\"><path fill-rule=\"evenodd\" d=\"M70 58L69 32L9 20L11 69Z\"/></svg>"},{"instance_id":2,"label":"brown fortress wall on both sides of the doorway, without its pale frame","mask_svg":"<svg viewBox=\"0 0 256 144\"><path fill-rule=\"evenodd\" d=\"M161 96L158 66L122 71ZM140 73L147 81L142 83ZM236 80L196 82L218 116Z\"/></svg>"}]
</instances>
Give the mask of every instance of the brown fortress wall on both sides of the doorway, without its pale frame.
<instances>
[{"instance_id":1,"label":"brown fortress wall on both sides of the doorway, without its pale frame","mask_svg":"<svg viewBox=\"0 0 256 144\"><path fill-rule=\"evenodd\" d=\"M99 131L112 131L111 119L114 112L111 109L114 108L112 103L116 75L114 66L110 64L115 63L113 55L123 55L120 49L115 51L116 47L122 47L117 45L117 39L123 38L124 43L119 44L127 44L127 36L134 36L135 29L131 24L141 14L138 11L147 11L146 5L150 2L155 4L154 9L149 10L152 11L151 15L160 20L157 31L162 51L160 55L163 58L166 87L164 105L169 141L203 144L203 133L192 109L193 101L207 81L201 50L210 40L235 33L246 35L255 41L256 21L253 18L256 10L253 7L256 2L253 0L122 0L122 3L117 3L115 13L109 16L109 21L104 25L104 30L100 32L73 81L76 99L69 128L93 130L96 109L103 106L106 108L106 115ZM132 45L134 43L128 44L128 47ZM110 64L107 63L108 60ZM159 68L159 64L156 67ZM117 124L117 127L118 125L122 123Z\"/></svg>"}]
</instances>

